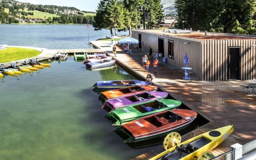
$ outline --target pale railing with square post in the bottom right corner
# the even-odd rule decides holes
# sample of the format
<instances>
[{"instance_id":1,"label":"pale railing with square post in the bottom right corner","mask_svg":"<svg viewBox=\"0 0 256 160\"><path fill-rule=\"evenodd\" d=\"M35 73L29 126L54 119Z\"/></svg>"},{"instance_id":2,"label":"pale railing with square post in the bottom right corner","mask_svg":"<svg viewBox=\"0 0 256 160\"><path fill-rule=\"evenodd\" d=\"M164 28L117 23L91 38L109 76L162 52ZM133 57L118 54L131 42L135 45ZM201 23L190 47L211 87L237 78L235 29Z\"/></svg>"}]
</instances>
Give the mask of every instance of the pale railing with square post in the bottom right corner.
<instances>
[{"instance_id":1,"label":"pale railing with square post in the bottom right corner","mask_svg":"<svg viewBox=\"0 0 256 160\"><path fill-rule=\"evenodd\" d=\"M220 154L210 160L256 160L256 140L248 142L244 144L244 146L236 143L230 146L230 148L228 152Z\"/></svg>"}]
</instances>

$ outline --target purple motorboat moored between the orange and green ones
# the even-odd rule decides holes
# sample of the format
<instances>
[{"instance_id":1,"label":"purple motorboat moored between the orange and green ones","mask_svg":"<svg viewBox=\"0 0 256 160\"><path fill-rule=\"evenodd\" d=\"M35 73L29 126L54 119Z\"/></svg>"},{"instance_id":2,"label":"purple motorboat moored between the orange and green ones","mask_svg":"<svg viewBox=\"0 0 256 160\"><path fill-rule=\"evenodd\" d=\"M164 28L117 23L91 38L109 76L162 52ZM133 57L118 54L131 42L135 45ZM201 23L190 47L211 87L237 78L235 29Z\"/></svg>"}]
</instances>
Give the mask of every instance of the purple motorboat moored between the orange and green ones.
<instances>
[{"instance_id":1,"label":"purple motorboat moored between the orange and green ones","mask_svg":"<svg viewBox=\"0 0 256 160\"><path fill-rule=\"evenodd\" d=\"M102 109L106 110L107 112L112 112L113 110L131 106L134 104L141 104L150 100L158 100L164 99L168 96L166 92L143 92L143 93L136 93L128 96L123 96L120 98L115 98L111 100L107 100Z\"/></svg>"}]
</instances>

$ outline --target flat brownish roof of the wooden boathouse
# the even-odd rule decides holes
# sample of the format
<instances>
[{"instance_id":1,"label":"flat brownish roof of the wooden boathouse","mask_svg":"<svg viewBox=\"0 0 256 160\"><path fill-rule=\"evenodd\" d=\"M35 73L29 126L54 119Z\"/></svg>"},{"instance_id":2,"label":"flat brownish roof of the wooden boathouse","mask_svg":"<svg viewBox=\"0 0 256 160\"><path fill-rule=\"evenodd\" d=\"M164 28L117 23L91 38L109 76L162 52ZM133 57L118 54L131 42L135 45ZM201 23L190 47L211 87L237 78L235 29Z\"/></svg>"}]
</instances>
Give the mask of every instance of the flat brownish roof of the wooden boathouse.
<instances>
[{"instance_id":1,"label":"flat brownish roof of the wooden boathouse","mask_svg":"<svg viewBox=\"0 0 256 160\"><path fill-rule=\"evenodd\" d=\"M148 33L157 33L157 34L165 34L170 36L182 36L187 38L195 38L200 40L232 40L232 39L256 39L256 37L253 36L240 36L240 35L229 35L229 34L212 34L207 33L207 36L204 36L204 33L202 32L192 32L192 33L168 33L168 32L162 32L162 30L135 30L135 31L141 31L141 32L148 32ZM167 31L167 30L166 30Z\"/></svg>"}]
</instances>

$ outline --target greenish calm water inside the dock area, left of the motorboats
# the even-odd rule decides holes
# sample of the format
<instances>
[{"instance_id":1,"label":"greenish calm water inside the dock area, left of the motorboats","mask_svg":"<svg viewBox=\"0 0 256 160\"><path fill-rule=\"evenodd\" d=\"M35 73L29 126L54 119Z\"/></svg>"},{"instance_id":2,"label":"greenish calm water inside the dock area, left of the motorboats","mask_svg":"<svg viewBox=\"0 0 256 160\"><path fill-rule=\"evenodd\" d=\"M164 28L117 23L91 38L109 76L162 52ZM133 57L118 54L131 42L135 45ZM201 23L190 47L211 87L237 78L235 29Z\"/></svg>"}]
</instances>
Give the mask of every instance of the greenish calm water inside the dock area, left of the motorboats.
<instances>
[{"instance_id":1,"label":"greenish calm water inside the dock area, left of the motorboats","mask_svg":"<svg viewBox=\"0 0 256 160\"><path fill-rule=\"evenodd\" d=\"M116 69L88 71L69 57L40 73L0 83L0 160L126 160L135 150L114 132L93 85L133 79Z\"/></svg>"}]
</instances>

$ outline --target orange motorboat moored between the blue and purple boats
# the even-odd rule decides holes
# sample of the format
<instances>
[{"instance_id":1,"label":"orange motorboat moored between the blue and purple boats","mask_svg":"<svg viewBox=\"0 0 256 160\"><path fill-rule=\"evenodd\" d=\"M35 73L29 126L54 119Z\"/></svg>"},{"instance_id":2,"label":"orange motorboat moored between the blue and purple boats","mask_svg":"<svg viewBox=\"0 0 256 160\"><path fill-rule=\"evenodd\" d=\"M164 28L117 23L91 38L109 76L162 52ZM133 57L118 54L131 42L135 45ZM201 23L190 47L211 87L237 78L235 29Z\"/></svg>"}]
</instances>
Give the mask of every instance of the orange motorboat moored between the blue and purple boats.
<instances>
[{"instance_id":1,"label":"orange motorboat moored between the blue and purple boats","mask_svg":"<svg viewBox=\"0 0 256 160\"><path fill-rule=\"evenodd\" d=\"M156 91L158 86L131 86L127 88L120 88L116 90L108 90L106 92L102 92L99 96L99 100L106 101L113 98L118 98L122 96L127 96L130 94L136 94L140 92L147 92L147 91Z\"/></svg>"}]
</instances>

